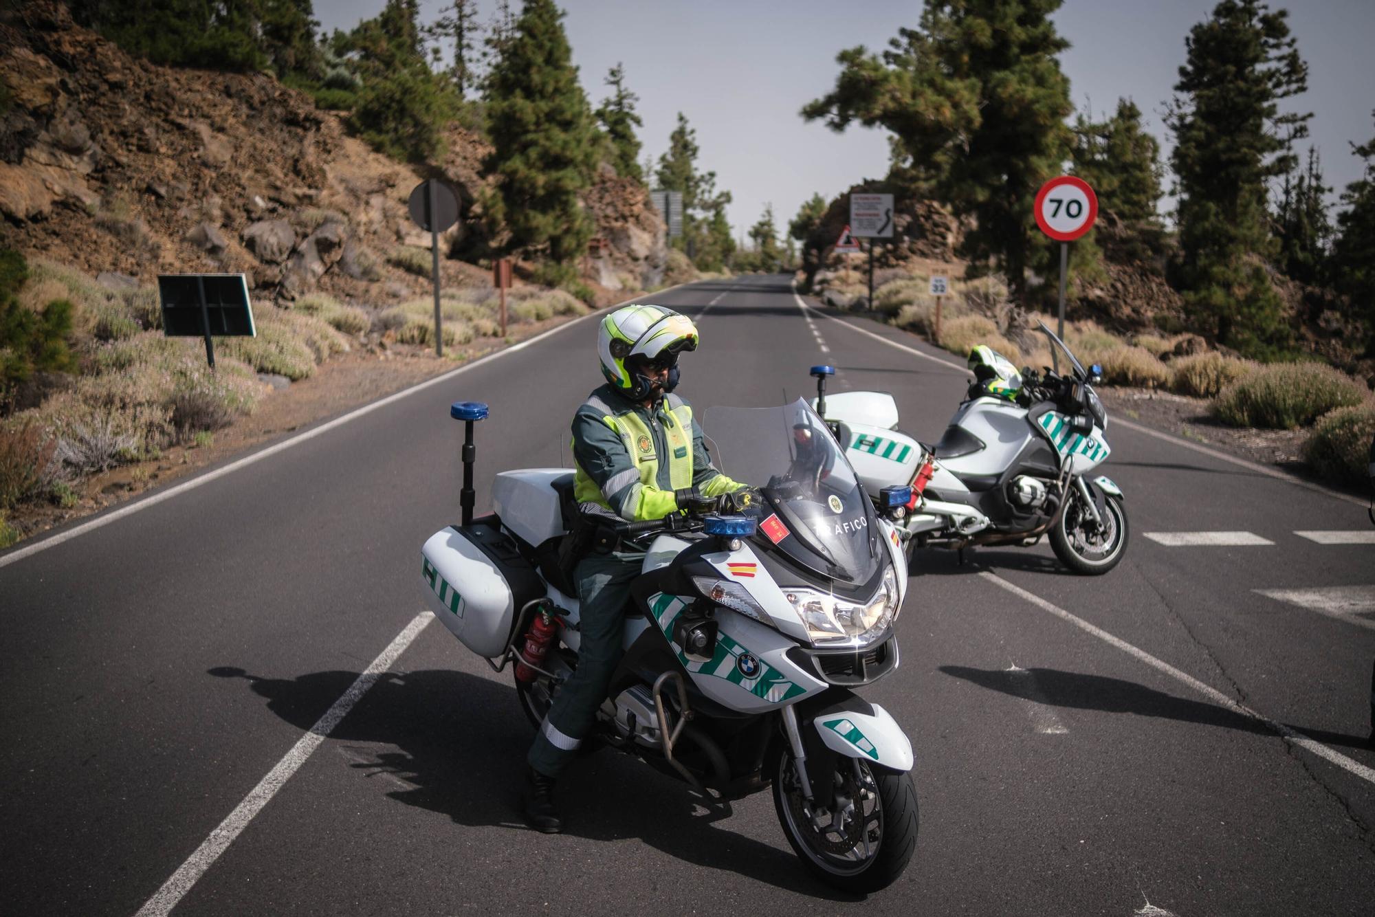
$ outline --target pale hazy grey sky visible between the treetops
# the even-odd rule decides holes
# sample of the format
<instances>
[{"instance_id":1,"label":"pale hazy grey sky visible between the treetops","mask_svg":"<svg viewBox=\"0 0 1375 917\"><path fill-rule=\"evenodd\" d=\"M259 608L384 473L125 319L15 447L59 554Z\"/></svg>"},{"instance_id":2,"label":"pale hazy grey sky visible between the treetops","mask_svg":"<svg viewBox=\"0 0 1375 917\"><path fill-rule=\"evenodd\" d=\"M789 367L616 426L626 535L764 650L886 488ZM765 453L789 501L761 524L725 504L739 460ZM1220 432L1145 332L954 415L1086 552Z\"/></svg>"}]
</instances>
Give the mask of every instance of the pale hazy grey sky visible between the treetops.
<instances>
[{"instance_id":1,"label":"pale hazy grey sky visible between the treetops","mask_svg":"<svg viewBox=\"0 0 1375 917\"><path fill-rule=\"evenodd\" d=\"M434 18L441 0L421 0ZM518 0L512 5L520 8ZM1071 43L1062 55L1075 104L1094 113L1130 96L1160 137L1163 102L1184 62L1184 36L1216 0L1067 0L1056 14ZM1375 136L1375 1L1272 3L1290 10L1290 27L1309 63L1309 91L1295 107L1313 111L1310 140L1323 158L1334 199L1360 175L1350 142ZM316 0L326 29L348 29L373 16L382 0ZM798 110L835 84L836 52L857 44L884 47L899 26L916 25L918 0L562 0L564 26L595 107L602 80L617 62L639 95L641 142L656 158L668 146L676 113L688 115L701 147L698 168L715 170L734 195L729 209L738 236L771 202L780 230L813 192L832 198L865 177L887 172L883 131L850 128L836 135L806 124ZM483 21L495 0L478 0ZM644 158L644 155L641 155Z\"/></svg>"}]
</instances>

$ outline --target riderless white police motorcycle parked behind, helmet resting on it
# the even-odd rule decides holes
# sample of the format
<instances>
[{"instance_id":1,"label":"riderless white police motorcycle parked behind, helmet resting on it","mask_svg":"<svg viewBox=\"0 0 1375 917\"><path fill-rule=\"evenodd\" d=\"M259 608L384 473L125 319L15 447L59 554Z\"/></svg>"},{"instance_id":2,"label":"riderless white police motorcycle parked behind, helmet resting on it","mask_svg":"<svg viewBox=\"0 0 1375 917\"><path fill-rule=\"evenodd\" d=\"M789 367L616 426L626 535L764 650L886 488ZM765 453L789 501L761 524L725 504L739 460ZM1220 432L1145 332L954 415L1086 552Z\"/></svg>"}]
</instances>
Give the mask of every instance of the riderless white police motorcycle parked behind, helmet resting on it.
<instances>
[{"instance_id":1,"label":"riderless white police motorcycle parked behind, helmet resting on it","mask_svg":"<svg viewBox=\"0 0 1375 917\"><path fill-rule=\"evenodd\" d=\"M825 397L830 367L813 367L818 410L835 422L846 455L876 499L910 484L902 535L916 547L1016 544L1049 535L1062 564L1101 575L1122 560L1128 521L1122 489L1093 474L1111 450L1107 411L1093 390L1097 367L1085 370L1042 322L1053 366L1018 373L987 346L969 355L975 381L935 445L898 428L886 392Z\"/></svg>"}]
</instances>

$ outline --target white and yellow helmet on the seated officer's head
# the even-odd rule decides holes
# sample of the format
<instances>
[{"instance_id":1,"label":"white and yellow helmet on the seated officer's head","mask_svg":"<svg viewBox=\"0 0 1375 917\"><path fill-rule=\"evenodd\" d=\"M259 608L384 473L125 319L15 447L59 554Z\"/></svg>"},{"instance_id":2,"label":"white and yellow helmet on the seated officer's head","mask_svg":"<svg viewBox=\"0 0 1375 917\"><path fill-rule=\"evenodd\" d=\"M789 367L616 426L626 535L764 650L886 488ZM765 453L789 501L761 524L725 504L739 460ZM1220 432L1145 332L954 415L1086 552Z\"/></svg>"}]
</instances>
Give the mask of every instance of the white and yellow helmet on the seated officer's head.
<instances>
[{"instance_id":1,"label":"white and yellow helmet on the seated officer's head","mask_svg":"<svg viewBox=\"0 0 1375 917\"><path fill-rule=\"evenodd\" d=\"M597 330L597 356L602 375L631 401L649 397L652 381L626 366L628 357L641 356L668 366L664 392L678 385L678 355L697 349L697 326L686 315L663 305L624 305L605 319Z\"/></svg>"}]
</instances>

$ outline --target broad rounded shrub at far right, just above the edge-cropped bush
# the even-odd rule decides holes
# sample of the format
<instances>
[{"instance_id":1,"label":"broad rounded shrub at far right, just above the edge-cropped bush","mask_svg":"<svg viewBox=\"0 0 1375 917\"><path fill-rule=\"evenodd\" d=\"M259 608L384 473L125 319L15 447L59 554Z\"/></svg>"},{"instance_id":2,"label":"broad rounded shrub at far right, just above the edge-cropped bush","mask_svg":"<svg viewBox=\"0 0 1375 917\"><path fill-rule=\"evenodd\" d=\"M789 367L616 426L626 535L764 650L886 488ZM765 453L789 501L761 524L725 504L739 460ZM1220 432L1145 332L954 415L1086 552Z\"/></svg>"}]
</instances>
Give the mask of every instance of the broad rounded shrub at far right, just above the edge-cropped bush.
<instances>
[{"instance_id":1,"label":"broad rounded shrub at far right, just above the edge-cropped bush","mask_svg":"<svg viewBox=\"0 0 1375 917\"><path fill-rule=\"evenodd\" d=\"M1292 429L1367 396L1364 385L1330 366L1275 363L1222 389L1213 414L1232 426Z\"/></svg>"}]
</instances>

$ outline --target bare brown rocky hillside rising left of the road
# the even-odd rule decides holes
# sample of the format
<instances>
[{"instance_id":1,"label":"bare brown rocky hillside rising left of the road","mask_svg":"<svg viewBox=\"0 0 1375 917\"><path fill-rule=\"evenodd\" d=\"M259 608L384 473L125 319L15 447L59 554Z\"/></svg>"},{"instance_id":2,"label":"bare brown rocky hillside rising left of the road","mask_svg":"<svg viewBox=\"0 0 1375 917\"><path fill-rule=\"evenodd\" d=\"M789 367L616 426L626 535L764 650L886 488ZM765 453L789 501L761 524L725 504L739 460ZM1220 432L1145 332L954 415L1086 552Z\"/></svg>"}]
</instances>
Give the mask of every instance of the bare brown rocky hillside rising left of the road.
<instances>
[{"instance_id":1,"label":"bare brown rocky hillside rising left of the road","mask_svg":"<svg viewBox=\"0 0 1375 917\"><path fill-rule=\"evenodd\" d=\"M426 279L392 261L429 247L406 209L441 177L463 205L441 252L463 247L487 148L454 125L440 168L399 164L351 137L338 114L265 74L177 70L131 58L59 4L0 19L0 245L88 274L243 271L257 297L322 289L382 305ZM605 290L659 282L663 223L642 188L602 175L587 195L602 245L583 264ZM414 252L410 252L414 256ZM444 258L447 283L487 271Z\"/></svg>"}]
</instances>

